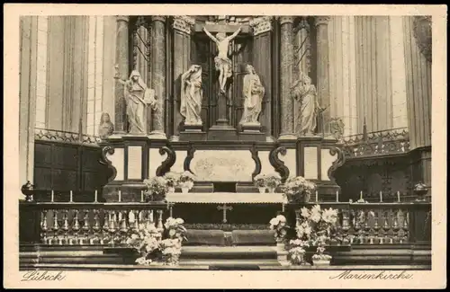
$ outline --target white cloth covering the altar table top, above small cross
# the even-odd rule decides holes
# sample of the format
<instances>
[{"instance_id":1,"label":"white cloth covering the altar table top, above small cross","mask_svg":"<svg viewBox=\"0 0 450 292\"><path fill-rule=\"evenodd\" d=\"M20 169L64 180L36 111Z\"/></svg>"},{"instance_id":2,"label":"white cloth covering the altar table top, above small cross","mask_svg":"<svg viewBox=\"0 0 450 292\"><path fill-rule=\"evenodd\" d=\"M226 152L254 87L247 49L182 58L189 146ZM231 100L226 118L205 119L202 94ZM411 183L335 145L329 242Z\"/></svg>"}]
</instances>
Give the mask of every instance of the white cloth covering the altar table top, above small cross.
<instances>
[{"instance_id":1,"label":"white cloth covering the altar table top, above small cross","mask_svg":"<svg viewBox=\"0 0 450 292\"><path fill-rule=\"evenodd\" d=\"M283 193L241 192L171 192L168 203L194 204L287 204Z\"/></svg>"}]
</instances>

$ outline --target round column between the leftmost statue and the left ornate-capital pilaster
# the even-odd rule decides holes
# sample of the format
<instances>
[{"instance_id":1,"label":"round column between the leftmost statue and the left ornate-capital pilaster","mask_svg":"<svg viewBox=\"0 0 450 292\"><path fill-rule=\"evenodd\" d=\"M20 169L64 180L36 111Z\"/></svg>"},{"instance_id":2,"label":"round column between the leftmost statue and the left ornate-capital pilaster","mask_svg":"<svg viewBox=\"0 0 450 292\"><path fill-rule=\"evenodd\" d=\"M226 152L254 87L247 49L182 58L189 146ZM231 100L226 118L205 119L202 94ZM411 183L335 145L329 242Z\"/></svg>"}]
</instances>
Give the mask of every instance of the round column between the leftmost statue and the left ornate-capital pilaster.
<instances>
[{"instance_id":1,"label":"round column between the leftmost statue and the left ornate-capital pilaster","mask_svg":"<svg viewBox=\"0 0 450 292\"><path fill-rule=\"evenodd\" d=\"M155 90L157 109L152 115L150 137L166 139L164 114L166 100L166 16L151 17L151 88Z\"/></svg>"}]
</instances>

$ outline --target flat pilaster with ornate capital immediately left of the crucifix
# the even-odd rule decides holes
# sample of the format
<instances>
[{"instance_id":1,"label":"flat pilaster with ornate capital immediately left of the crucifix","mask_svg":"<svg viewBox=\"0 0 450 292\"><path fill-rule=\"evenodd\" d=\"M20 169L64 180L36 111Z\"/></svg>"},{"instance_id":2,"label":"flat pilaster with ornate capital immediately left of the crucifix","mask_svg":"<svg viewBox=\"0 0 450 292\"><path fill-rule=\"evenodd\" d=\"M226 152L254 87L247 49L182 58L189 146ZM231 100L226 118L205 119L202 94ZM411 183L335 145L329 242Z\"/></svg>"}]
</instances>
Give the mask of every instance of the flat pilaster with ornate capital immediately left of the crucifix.
<instances>
[{"instance_id":1,"label":"flat pilaster with ornate capital immediately left of the crucifix","mask_svg":"<svg viewBox=\"0 0 450 292\"><path fill-rule=\"evenodd\" d=\"M180 114L181 75L189 70L191 57L191 29L195 20L189 16L174 16L174 136L172 141L178 141L180 123L183 117Z\"/></svg>"}]
</instances>

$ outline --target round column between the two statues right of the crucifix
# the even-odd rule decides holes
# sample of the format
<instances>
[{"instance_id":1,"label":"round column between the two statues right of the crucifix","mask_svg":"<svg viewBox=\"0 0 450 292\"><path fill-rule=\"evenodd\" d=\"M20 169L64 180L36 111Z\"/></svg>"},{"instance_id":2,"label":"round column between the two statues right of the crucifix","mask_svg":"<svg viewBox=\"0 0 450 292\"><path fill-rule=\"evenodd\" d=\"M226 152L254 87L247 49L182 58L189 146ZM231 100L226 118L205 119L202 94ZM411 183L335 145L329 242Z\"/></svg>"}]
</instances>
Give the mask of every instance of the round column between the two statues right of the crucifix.
<instances>
[{"instance_id":1,"label":"round column between the two statues right of the crucifix","mask_svg":"<svg viewBox=\"0 0 450 292\"><path fill-rule=\"evenodd\" d=\"M280 16L280 91L281 133L280 140L295 140L293 133L293 16Z\"/></svg>"}]
</instances>

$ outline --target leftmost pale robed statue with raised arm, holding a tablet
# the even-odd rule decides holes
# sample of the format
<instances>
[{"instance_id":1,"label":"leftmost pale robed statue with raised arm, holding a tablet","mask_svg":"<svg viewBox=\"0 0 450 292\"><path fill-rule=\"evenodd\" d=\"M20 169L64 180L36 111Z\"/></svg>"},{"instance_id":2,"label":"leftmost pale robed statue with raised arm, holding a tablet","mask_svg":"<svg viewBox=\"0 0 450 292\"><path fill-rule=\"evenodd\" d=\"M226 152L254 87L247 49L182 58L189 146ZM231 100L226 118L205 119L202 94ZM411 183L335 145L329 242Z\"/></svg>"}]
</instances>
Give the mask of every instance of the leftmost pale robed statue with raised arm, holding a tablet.
<instances>
[{"instance_id":1,"label":"leftmost pale robed statue with raised arm, holding a tablet","mask_svg":"<svg viewBox=\"0 0 450 292\"><path fill-rule=\"evenodd\" d=\"M125 101L127 103L127 116L130 122L130 134L147 134L146 133L146 117L147 106L150 105L156 109L155 91L149 89L144 83L139 72L133 70L130 79L121 80L118 76L114 76L121 84L124 85Z\"/></svg>"}]
</instances>

